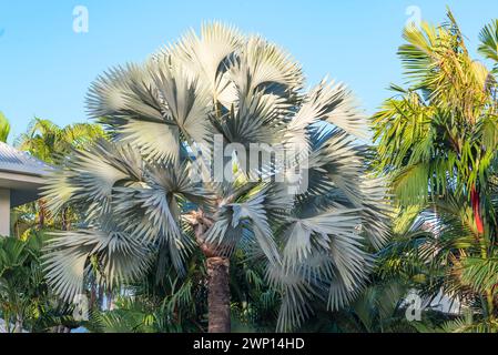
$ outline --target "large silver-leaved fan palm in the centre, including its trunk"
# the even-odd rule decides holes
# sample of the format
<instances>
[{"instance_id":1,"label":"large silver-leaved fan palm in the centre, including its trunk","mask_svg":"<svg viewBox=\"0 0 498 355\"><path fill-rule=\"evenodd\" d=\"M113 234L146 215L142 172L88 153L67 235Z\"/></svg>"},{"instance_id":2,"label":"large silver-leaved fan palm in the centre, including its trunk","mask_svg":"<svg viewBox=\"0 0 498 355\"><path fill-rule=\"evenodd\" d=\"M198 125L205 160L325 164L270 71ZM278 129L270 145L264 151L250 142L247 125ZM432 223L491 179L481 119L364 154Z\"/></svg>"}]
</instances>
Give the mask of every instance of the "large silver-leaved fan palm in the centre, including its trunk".
<instances>
[{"instance_id":1,"label":"large silver-leaved fan palm in the centre, including its trunk","mask_svg":"<svg viewBox=\"0 0 498 355\"><path fill-rule=\"evenodd\" d=\"M218 23L101 75L88 106L112 142L75 150L44 194L52 211L73 204L87 216L54 234L54 290L72 301L90 263L108 287L140 280L157 257L184 275L200 250L209 331L228 332L230 261L243 250L281 294L278 329L298 326L316 297L328 310L352 301L372 264L366 244L387 237L385 186L367 173L367 125L349 91L303 85L282 49ZM284 159L244 159L276 143Z\"/></svg>"}]
</instances>

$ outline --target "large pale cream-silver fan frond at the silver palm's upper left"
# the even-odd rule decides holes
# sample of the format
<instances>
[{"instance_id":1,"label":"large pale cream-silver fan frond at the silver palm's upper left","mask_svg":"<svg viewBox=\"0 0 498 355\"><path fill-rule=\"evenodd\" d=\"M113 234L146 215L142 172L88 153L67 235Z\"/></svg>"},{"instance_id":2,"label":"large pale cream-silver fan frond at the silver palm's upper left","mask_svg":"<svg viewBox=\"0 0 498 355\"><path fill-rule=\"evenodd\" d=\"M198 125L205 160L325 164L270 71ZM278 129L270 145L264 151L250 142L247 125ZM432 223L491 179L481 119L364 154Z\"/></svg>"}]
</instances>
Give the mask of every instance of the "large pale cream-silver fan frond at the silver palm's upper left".
<instances>
[{"instance_id":1,"label":"large pale cream-silver fan frond at the silver palm's upper left","mask_svg":"<svg viewBox=\"0 0 498 355\"><path fill-rule=\"evenodd\" d=\"M206 89L171 60L111 70L88 97L90 114L151 160L177 161L182 139L202 144L212 129Z\"/></svg>"}]
</instances>

